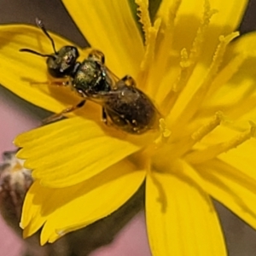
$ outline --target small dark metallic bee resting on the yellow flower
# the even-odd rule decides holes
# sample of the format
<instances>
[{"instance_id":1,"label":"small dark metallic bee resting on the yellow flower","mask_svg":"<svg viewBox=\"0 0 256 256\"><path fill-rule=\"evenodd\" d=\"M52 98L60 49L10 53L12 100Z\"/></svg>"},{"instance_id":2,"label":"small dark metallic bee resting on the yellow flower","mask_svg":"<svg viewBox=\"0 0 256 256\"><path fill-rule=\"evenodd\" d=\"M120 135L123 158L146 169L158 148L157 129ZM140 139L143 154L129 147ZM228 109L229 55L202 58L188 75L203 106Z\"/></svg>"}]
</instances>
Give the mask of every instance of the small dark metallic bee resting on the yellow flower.
<instances>
[{"instance_id":1,"label":"small dark metallic bee resting on the yellow flower","mask_svg":"<svg viewBox=\"0 0 256 256\"><path fill-rule=\"evenodd\" d=\"M72 45L55 49L55 42L44 27L42 20L36 20L38 27L49 38L54 53L41 54L32 49L20 49L35 55L46 57L49 74L54 78L68 78L68 84L83 99L78 105L64 109L48 119L51 122L63 114L84 106L89 100L102 106L102 121L108 122L122 131L142 134L154 129L159 115L154 103L136 82L126 75L119 79L105 65L105 56L100 50L93 49L84 61L79 62L79 51Z\"/></svg>"}]
</instances>

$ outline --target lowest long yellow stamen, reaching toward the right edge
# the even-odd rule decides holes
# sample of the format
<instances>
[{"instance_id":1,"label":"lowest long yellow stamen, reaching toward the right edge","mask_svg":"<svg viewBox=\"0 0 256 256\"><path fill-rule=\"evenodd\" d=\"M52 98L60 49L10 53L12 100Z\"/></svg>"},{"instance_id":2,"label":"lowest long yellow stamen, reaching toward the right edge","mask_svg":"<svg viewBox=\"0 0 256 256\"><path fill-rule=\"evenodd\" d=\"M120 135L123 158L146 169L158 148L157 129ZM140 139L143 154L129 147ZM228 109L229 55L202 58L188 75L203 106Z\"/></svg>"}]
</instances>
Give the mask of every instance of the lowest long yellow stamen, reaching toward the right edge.
<instances>
[{"instance_id":1,"label":"lowest long yellow stamen, reaching toward the right edge","mask_svg":"<svg viewBox=\"0 0 256 256\"><path fill-rule=\"evenodd\" d=\"M251 137L256 137L256 125L253 122L250 122L251 129L249 131L245 131L240 135L234 137L230 141L224 143L218 143L216 145L210 146L204 150L197 150L185 156L185 160L189 161L192 164L199 164L201 161L211 160L218 156L218 154L222 154L224 152L229 151L232 148L236 148L241 143L246 142Z\"/></svg>"}]
</instances>

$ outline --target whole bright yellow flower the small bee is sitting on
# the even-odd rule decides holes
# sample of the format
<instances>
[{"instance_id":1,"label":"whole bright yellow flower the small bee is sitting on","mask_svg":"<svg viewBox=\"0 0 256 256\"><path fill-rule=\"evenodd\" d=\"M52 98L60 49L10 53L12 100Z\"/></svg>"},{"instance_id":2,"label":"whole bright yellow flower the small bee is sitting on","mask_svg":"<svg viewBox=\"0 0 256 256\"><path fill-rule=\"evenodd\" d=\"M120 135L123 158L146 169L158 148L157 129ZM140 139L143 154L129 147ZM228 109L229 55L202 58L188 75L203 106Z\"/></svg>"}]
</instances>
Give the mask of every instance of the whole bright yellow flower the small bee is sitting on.
<instances>
[{"instance_id":1,"label":"whole bright yellow flower the small bee is sitting on","mask_svg":"<svg viewBox=\"0 0 256 256\"><path fill-rule=\"evenodd\" d=\"M41 243L53 242L111 214L145 181L154 255L226 255L211 196L256 228L256 35L231 42L247 1L163 0L150 20L147 1L136 0L143 37L127 0L63 3L113 73L135 78L163 119L159 131L131 136L103 125L89 102L17 137L36 178L23 208L25 236L43 227ZM41 31L0 32L1 84L55 113L80 101L40 84L49 80L42 58L17 53L51 53ZM52 36L58 47L72 44Z\"/></svg>"}]
</instances>

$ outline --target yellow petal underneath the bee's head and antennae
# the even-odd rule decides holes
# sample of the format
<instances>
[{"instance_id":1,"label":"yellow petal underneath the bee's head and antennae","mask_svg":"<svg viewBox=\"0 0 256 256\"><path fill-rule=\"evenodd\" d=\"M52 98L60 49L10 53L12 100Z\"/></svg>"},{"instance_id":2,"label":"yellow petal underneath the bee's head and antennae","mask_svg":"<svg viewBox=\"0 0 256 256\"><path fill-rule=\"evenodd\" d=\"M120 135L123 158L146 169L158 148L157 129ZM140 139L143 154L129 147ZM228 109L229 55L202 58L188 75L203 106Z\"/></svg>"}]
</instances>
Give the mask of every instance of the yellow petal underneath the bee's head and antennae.
<instances>
[{"instance_id":1,"label":"yellow petal underneath the bee's head and antennae","mask_svg":"<svg viewBox=\"0 0 256 256\"><path fill-rule=\"evenodd\" d=\"M73 43L51 34L57 49ZM26 25L6 25L0 27L0 84L28 102L52 112L60 112L68 105L80 101L68 88L49 85L46 60L38 55L19 52L28 48L43 54L53 53L52 46L44 33ZM79 49L82 56L84 53Z\"/></svg>"}]
</instances>

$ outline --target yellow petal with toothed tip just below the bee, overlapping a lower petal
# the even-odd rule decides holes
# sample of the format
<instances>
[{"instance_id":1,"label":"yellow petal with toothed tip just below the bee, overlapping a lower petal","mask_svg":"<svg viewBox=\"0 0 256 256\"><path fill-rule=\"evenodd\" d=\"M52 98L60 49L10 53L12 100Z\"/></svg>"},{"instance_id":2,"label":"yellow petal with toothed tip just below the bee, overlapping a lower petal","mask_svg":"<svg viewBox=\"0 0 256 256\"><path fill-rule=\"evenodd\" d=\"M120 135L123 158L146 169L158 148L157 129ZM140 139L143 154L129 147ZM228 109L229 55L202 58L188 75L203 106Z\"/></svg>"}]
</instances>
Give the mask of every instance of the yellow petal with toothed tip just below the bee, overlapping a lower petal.
<instances>
[{"instance_id":1,"label":"yellow petal with toothed tip just below the bee, overlapping a lower petal","mask_svg":"<svg viewBox=\"0 0 256 256\"><path fill-rule=\"evenodd\" d=\"M113 127L110 132L117 133ZM18 157L27 159L25 166L33 170L32 176L46 186L59 188L93 177L140 149L109 136L102 123L80 117L28 131L15 143L22 148Z\"/></svg>"}]
</instances>

